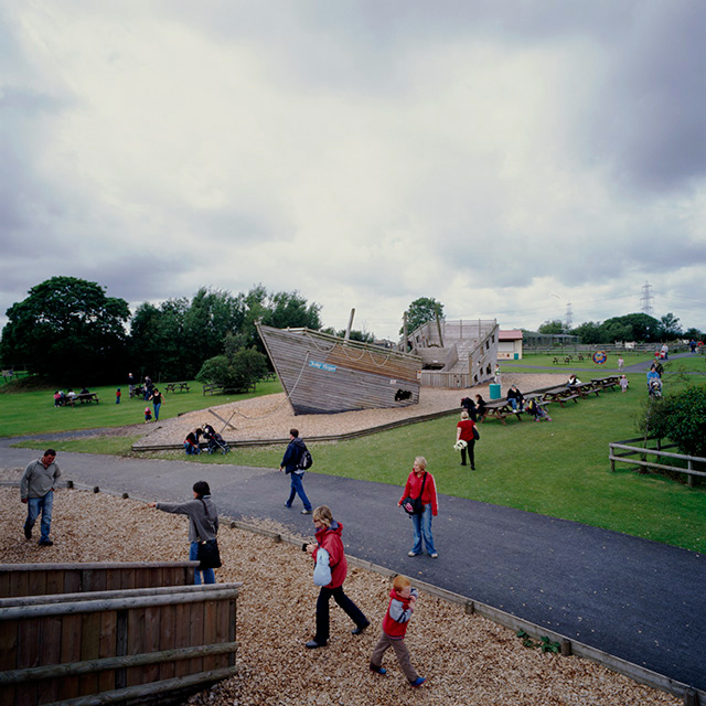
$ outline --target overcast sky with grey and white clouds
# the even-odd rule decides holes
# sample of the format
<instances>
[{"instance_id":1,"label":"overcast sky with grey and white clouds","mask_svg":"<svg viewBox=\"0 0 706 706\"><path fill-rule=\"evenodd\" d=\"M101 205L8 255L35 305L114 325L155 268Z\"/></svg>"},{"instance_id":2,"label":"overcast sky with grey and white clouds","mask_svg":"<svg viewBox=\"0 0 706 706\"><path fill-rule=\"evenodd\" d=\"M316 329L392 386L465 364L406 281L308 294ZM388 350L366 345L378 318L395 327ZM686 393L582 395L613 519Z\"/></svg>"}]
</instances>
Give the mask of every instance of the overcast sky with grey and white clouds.
<instances>
[{"instance_id":1,"label":"overcast sky with grey and white clouds","mask_svg":"<svg viewBox=\"0 0 706 706\"><path fill-rule=\"evenodd\" d=\"M393 338L649 282L706 330L705 36L703 0L0 0L0 314L261 282Z\"/></svg>"}]
</instances>

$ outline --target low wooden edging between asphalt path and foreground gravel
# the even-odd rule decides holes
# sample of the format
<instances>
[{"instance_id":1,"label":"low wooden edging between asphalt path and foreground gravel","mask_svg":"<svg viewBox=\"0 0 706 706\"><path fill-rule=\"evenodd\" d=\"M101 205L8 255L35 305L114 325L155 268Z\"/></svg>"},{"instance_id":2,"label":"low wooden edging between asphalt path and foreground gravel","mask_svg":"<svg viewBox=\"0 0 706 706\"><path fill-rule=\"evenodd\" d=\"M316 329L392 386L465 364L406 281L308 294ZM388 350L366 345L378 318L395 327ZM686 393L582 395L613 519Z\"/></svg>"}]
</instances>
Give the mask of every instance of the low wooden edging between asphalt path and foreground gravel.
<instances>
[{"instance_id":1,"label":"low wooden edging between asphalt path and foreground gravel","mask_svg":"<svg viewBox=\"0 0 706 706\"><path fill-rule=\"evenodd\" d=\"M456 413L457 410L454 409L453 411ZM97 486L86 485L84 483L72 482L71 486L76 490L93 490L94 493L105 492L108 495L122 498L128 496L128 494L124 492L113 491L109 489L98 489ZM141 498L139 495L129 495L129 498L139 502L149 502L148 499ZM269 537L274 543L277 544L286 542L287 544L291 544L297 547L300 547L302 544L302 538L295 535L281 534L271 530L265 530L264 527L243 522L242 520L233 520L232 517L225 515L221 515L220 520L223 522L223 526L227 525L232 530L243 530L245 532L250 532L253 534ZM346 559L351 566L367 569L386 578L393 578L398 574L398 571L395 571L394 569L388 569L387 567L379 566L378 564L374 564L373 561L368 561L367 559L360 559L359 557L349 554L346 554ZM475 601L467 596L454 593L453 591L439 588L438 586L434 586L432 584L427 584L426 581L420 581L418 579L415 579L415 586L417 586L420 590L422 590L425 593L428 593L429 596L434 596L435 598L439 598L440 600L445 600L449 603L463 606L467 613L479 613L480 616L483 616L484 618L488 618L489 620L503 625L504 628L514 630L515 632L518 630L524 630L531 638L535 640L547 637L552 641L558 642L561 645L561 654L565 656L573 654L590 660L591 662L596 662L597 664L605 666L611 672L617 672L618 674L628 676L639 684L644 684L645 686L660 689L661 692L665 692L666 694L671 694L672 696L677 696L684 700L684 704L686 706L698 706L699 704L706 706L706 691L704 689L694 688L688 684L677 682L673 678L670 678L668 676L665 676L664 674L653 672L652 670L648 670L643 666L640 666L639 664L634 664L633 662L628 662L627 660L617 657L608 652L598 650L582 642L577 642L558 632L547 630L542 625L530 622L522 618L517 618L516 616L513 616L512 613L509 613L504 610L500 610L499 608L494 608L493 606Z\"/></svg>"}]
</instances>

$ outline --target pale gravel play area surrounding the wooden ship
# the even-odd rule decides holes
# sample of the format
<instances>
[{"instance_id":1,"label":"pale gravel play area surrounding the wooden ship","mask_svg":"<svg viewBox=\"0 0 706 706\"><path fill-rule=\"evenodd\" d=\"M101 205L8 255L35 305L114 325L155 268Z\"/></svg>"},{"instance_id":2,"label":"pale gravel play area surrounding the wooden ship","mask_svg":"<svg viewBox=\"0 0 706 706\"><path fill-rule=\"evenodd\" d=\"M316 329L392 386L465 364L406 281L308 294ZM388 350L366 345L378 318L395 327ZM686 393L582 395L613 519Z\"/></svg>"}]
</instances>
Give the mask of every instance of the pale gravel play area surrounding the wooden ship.
<instances>
[{"instance_id":1,"label":"pale gravel play area surrounding the wooden ship","mask_svg":"<svg viewBox=\"0 0 706 706\"><path fill-rule=\"evenodd\" d=\"M524 392L541 387L560 385L568 379L567 375L555 374L503 374L503 391L515 384ZM284 393L266 395L243 402L217 405L213 410L223 419L229 420L231 426L222 434L227 441L245 439L285 439L289 429L296 427L303 437L325 436L359 431L370 427L389 424L399 419L419 417L435 411L459 409L462 397L470 394L482 395L490 399L488 385L472 389L432 389L424 387L419 395L419 404L394 409L365 409L361 411L343 411L335 415L301 415L296 416ZM169 400L167 400L169 404ZM181 443L189 431L204 424L211 424L216 430L224 428L223 421L211 414L208 409L191 411L180 417L160 420L152 430L138 443L139 446L156 446L162 443Z\"/></svg>"}]
</instances>

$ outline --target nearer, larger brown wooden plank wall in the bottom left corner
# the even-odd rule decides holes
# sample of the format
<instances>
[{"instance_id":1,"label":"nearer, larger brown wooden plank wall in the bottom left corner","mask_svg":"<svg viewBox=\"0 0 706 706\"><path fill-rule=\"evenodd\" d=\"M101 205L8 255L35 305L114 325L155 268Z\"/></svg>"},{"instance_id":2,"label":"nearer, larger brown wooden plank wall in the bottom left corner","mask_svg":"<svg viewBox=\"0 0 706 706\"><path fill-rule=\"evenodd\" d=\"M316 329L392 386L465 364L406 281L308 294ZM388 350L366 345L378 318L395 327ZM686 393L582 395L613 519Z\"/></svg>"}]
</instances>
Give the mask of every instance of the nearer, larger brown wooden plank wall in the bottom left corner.
<instances>
[{"instance_id":1,"label":"nearer, larger brown wooden plank wall in the bottom left corner","mask_svg":"<svg viewBox=\"0 0 706 706\"><path fill-rule=\"evenodd\" d=\"M0 704L83 706L203 688L236 673L240 584L21 597L0 605ZM14 605L13 605L14 603Z\"/></svg>"}]
</instances>

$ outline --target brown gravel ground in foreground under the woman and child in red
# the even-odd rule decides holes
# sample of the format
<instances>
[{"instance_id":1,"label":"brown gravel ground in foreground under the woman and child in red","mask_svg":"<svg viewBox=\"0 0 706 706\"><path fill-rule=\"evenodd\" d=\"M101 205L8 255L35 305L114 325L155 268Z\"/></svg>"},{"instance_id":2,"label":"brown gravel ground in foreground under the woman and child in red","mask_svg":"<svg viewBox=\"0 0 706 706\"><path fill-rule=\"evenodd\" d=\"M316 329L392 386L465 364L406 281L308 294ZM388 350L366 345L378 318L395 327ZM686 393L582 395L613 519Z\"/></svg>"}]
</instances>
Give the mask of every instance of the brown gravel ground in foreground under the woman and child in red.
<instances>
[{"instance_id":1,"label":"brown gravel ground in foreground under the woman and child in red","mask_svg":"<svg viewBox=\"0 0 706 706\"><path fill-rule=\"evenodd\" d=\"M527 388L528 389L528 388ZM25 506L17 489L0 489L0 561L135 561L186 557L186 518L105 493L56 494L53 547L22 535ZM261 523L260 523L261 524ZM285 532L274 523L267 528ZM345 536L345 535L344 535ZM136 541L139 537L139 542ZM303 539L303 538L302 538ZM361 637L332 603L329 646L308 651L318 589L311 560L297 547L224 527L218 542L224 568L217 580L243 581L238 599L239 674L190 699L211 706L301 706L302 704L527 704L542 706L651 706L681 700L640 686L579 657L543 654L515 634L480 617L421 593L407 634L413 663L428 678L411 689L394 654L387 676L367 670L387 607L388 580L353 568L346 593L372 622ZM282 568L286 567L285 570Z\"/></svg>"}]
</instances>

